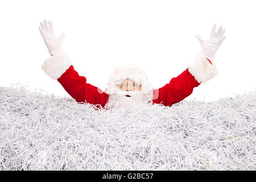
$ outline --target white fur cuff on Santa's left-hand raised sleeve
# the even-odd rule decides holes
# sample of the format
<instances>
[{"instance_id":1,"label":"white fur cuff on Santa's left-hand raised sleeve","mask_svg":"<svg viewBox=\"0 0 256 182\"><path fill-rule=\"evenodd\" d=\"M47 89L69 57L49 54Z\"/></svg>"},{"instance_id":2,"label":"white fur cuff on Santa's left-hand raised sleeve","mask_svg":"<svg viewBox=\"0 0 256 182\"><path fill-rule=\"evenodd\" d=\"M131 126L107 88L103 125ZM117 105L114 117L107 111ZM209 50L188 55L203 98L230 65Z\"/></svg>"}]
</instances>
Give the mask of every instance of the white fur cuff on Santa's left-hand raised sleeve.
<instances>
[{"instance_id":1,"label":"white fur cuff on Santa's left-hand raised sleeve","mask_svg":"<svg viewBox=\"0 0 256 182\"><path fill-rule=\"evenodd\" d=\"M72 62L68 54L63 49L60 49L53 56L45 60L41 68L49 77L57 80L71 65Z\"/></svg>"}]
</instances>

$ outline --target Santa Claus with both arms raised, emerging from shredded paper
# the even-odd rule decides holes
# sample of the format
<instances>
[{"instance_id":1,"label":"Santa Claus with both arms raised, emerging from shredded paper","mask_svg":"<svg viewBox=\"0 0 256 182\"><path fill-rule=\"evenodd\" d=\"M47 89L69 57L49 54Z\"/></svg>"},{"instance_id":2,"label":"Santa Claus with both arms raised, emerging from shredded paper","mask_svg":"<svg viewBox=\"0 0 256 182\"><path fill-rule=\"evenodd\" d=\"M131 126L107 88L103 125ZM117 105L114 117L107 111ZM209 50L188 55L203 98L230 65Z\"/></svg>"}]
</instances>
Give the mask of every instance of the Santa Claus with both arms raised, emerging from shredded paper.
<instances>
[{"instance_id":1,"label":"Santa Claus with both arms raised, emerging from shredded paper","mask_svg":"<svg viewBox=\"0 0 256 182\"><path fill-rule=\"evenodd\" d=\"M209 40L199 39L203 50L188 63L187 69L179 76L171 79L162 88L152 88L146 73L133 64L123 64L114 69L109 84L101 89L87 83L72 65L67 53L60 49L65 34L56 37L51 21L40 22L39 30L51 55L42 64L43 71L52 79L57 80L69 95L79 103L90 103L97 108L114 109L132 104L162 104L171 106L188 97L193 88L217 75L217 68L212 63L213 57L225 39L225 29L221 26L212 28Z\"/></svg>"}]
</instances>

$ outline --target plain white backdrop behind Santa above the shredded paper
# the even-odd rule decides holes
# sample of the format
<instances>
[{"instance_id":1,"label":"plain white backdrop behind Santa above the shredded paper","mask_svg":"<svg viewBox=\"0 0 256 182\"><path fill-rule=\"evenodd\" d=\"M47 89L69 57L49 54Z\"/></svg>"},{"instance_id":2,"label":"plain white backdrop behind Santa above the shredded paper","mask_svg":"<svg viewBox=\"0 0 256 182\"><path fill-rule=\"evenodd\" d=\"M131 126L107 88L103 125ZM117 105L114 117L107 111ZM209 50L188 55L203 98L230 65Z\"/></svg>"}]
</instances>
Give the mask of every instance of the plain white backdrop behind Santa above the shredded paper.
<instances>
[{"instance_id":1,"label":"plain white backdrop behind Santa above the shredded paper","mask_svg":"<svg viewBox=\"0 0 256 182\"><path fill-rule=\"evenodd\" d=\"M49 56L38 30L51 19L63 49L89 84L105 90L119 64L141 67L154 88L167 84L201 51L214 23L226 39L214 57L219 74L185 100L214 101L256 89L255 1L1 1L0 86L19 83L69 96L40 68Z\"/></svg>"}]
</instances>

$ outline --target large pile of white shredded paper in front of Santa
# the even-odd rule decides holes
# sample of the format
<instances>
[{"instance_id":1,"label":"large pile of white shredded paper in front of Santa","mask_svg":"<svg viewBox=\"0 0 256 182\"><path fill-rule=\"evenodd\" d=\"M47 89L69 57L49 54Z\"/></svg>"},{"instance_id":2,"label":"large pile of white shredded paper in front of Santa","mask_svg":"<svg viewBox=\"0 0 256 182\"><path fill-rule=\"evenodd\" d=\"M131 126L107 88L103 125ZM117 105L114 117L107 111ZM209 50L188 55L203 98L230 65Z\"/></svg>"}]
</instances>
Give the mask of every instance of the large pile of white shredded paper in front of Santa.
<instances>
[{"instance_id":1,"label":"large pile of white shredded paper in front of Santa","mask_svg":"<svg viewBox=\"0 0 256 182\"><path fill-rule=\"evenodd\" d=\"M0 170L255 170L256 92L96 110L0 88Z\"/></svg>"}]
</instances>

